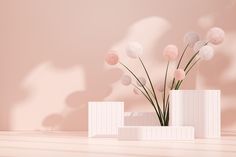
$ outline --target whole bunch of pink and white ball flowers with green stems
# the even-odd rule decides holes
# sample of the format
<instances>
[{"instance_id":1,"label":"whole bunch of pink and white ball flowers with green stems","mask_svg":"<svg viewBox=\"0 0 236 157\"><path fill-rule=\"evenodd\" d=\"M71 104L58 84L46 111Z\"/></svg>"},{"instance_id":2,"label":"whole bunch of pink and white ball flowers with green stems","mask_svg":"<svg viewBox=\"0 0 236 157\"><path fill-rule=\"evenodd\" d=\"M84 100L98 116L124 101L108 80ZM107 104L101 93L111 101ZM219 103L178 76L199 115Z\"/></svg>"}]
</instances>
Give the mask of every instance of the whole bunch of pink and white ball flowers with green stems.
<instances>
[{"instance_id":1,"label":"whole bunch of pink and white ball flowers with green stems","mask_svg":"<svg viewBox=\"0 0 236 157\"><path fill-rule=\"evenodd\" d=\"M181 87L185 77L189 74L190 70L201 60L210 60L214 56L214 50L209 44L218 45L223 42L225 33L221 28L213 27L206 35L206 41L200 40L200 37L195 32L186 33L184 36L185 48L182 51L181 56L177 62L176 69L172 75L172 83L170 87L167 87L168 70L172 61L177 60L179 51L175 45L167 45L163 50L163 57L167 60L167 66L164 75L163 84L158 84L154 88L151 77L141 59L143 53L143 47L137 42L131 42L126 47L127 56L130 58L138 59L145 71L147 81L144 77L138 77L129 67L119 61L119 57L116 51L111 51L107 54L105 61L109 65L120 64L123 66L136 80L136 84L132 83L132 78L129 75L123 75L121 83L125 86L133 85L135 94L142 94L153 106L156 115L159 119L161 126L168 126L169 124L169 90L178 90ZM188 48L194 52L190 57L186 65L180 68L181 62ZM148 82L148 83L147 83ZM162 101L157 98L156 90L162 92Z\"/></svg>"}]
</instances>

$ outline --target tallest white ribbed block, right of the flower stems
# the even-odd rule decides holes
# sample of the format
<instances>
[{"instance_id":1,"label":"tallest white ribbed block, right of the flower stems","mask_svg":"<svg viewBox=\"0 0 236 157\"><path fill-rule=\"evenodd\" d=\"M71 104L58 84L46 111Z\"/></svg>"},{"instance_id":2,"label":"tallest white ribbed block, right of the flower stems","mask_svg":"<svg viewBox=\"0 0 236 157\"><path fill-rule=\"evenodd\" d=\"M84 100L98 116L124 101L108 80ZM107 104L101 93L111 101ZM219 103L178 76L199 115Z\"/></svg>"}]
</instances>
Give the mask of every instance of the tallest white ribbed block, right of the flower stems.
<instances>
[{"instance_id":1,"label":"tallest white ribbed block, right of the flower stems","mask_svg":"<svg viewBox=\"0 0 236 157\"><path fill-rule=\"evenodd\" d=\"M170 125L193 126L195 137L219 138L220 90L170 91Z\"/></svg>"}]
</instances>

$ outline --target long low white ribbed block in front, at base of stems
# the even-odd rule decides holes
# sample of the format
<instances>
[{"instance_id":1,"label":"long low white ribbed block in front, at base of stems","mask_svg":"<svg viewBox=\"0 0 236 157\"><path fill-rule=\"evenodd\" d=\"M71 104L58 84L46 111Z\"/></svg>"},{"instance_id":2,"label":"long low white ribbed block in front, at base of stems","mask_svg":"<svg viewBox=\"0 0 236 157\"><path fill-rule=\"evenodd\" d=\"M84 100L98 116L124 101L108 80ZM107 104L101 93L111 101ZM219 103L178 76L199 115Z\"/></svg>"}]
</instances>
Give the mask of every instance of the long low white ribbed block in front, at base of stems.
<instances>
[{"instance_id":1,"label":"long low white ribbed block in front, at base of stems","mask_svg":"<svg viewBox=\"0 0 236 157\"><path fill-rule=\"evenodd\" d=\"M194 128L189 126L124 126L119 140L193 140Z\"/></svg>"}]
</instances>

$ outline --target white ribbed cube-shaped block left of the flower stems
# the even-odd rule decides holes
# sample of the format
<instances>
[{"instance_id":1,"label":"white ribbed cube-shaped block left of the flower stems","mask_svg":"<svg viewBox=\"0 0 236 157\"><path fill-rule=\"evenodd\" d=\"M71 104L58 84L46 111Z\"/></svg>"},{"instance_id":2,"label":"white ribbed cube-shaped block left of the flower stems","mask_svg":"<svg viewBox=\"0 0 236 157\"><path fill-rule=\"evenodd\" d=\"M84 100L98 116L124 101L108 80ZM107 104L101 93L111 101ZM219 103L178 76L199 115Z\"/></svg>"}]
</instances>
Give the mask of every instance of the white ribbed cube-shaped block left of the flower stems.
<instances>
[{"instance_id":1,"label":"white ribbed cube-shaped block left of the flower stems","mask_svg":"<svg viewBox=\"0 0 236 157\"><path fill-rule=\"evenodd\" d=\"M88 136L117 137L124 125L124 102L89 102Z\"/></svg>"}]
</instances>

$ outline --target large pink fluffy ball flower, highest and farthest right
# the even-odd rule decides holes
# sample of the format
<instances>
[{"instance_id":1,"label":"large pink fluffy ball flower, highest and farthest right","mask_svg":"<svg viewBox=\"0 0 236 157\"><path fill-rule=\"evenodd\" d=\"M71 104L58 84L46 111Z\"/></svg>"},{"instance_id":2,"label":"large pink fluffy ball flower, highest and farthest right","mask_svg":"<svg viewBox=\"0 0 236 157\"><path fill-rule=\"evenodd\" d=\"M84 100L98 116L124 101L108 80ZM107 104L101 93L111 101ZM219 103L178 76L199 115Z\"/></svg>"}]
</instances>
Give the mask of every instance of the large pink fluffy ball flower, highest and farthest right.
<instances>
[{"instance_id":1,"label":"large pink fluffy ball flower, highest and farthest right","mask_svg":"<svg viewBox=\"0 0 236 157\"><path fill-rule=\"evenodd\" d=\"M219 27L213 27L207 32L207 40L214 45L222 43L224 38L225 32Z\"/></svg>"}]
</instances>

